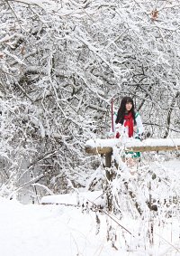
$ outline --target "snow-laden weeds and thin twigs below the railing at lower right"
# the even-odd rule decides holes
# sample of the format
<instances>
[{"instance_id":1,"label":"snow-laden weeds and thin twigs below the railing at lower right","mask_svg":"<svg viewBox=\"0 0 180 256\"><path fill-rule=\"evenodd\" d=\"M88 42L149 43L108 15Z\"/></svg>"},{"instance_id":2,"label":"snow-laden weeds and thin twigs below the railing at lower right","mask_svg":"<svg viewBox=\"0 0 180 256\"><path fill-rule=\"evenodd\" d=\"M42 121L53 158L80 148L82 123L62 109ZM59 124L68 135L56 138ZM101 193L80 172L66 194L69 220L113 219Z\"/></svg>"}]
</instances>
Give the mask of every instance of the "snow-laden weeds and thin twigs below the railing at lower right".
<instances>
[{"instance_id":1,"label":"snow-laden weeds and thin twigs below the railing at lower right","mask_svg":"<svg viewBox=\"0 0 180 256\"><path fill-rule=\"evenodd\" d=\"M120 156L121 149L117 151ZM158 248L162 249L166 242L169 250L175 249L172 255L178 254L179 246L174 238L177 235L176 241L179 241L179 226L176 229L173 226L179 222L179 162L174 167L175 161L166 166L168 162L165 162L165 156L155 154L144 158L138 163L138 172L134 175L130 174L130 169L121 159L119 167L105 168L104 171L110 172L111 178L103 179L102 202L94 201L91 206L98 215L98 232L103 228L101 214L105 214L107 241L111 242L112 248L119 250L121 240L121 246L125 245L127 251L144 250L149 256L159 255L152 252L158 241ZM151 161L151 165L146 165L148 161ZM128 223L124 222L126 218Z\"/></svg>"}]
</instances>

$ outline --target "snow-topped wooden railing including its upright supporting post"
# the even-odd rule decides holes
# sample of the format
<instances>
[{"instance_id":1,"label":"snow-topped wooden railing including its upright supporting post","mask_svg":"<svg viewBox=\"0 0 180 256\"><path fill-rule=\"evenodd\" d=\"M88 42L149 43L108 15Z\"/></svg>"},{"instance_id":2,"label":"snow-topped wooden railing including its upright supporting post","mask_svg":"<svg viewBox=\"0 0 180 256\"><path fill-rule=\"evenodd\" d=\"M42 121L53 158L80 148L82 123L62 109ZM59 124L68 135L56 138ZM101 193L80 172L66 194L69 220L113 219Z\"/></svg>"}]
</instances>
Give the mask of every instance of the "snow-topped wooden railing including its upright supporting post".
<instances>
[{"instance_id":1,"label":"snow-topped wooden railing including its upright supporting post","mask_svg":"<svg viewBox=\"0 0 180 256\"><path fill-rule=\"evenodd\" d=\"M160 139L147 139L139 141L138 139L128 139L121 141L121 139L91 139L85 144L85 152L87 154L101 154L105 156L105 175L107 179L107 188L105 190L107 197L107 208L112 211L112 197L109 192L110 184L112 181L112 152L113 147L120 147L125 152L149 152L149 151L170 151L180 150L180 138L160 138ZM116 163L117 164L117 163ZM116 165L117 166L117 165ZM117 166L118 167L118 166ZM150 185L150 184L149 184ZM128 185L125 184L127 191ZM109 187L109 188L108 188ZM129 191L130 197L133 199L133 195ZM140 209L139 204L136 202L137 209ZM156 206L156 205L155 205ZM155 207L157 208L157 206ZM151 205L151 199L149 198L149 209L157 211Z\"/></svg>"}]
</instances>

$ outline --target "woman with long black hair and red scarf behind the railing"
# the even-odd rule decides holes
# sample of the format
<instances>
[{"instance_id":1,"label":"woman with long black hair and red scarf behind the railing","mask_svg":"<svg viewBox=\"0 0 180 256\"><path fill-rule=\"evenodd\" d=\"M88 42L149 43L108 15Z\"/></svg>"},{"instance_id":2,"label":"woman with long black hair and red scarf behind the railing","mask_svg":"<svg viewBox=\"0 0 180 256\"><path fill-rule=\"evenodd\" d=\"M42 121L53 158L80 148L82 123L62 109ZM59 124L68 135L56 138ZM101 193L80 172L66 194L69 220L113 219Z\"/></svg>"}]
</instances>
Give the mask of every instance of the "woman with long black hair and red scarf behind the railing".
<instances>
[{"instance_id":1,"label":"woman with long black hair and red scarf behind the railing","mask_svg":"<svg viewBox=\"0 0 180 256\"><path fill-rule=\"evenodd\" d=\"M121 100L120 109L116 114L115 128L115 137L117 138L123 137L124 135L126 137L139 138L144 132L140 115L135 111L134 102L130 97L124 97ZM139 156L139 152L126 152L122 158L127 160L129 167L133 167L136 165L134 158ZM134 171L131 169L130 173L133 175Z\"/></svg>"}]
</instances>

